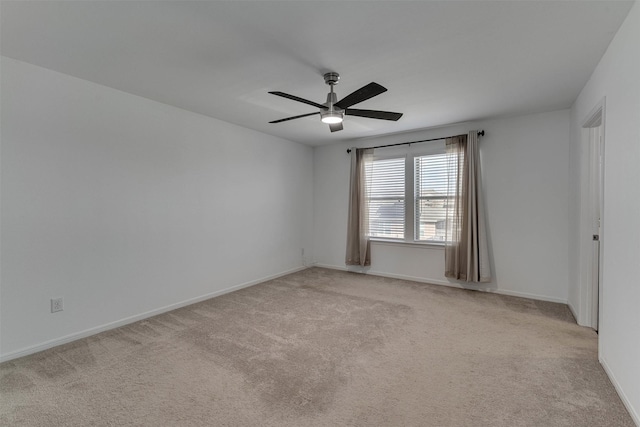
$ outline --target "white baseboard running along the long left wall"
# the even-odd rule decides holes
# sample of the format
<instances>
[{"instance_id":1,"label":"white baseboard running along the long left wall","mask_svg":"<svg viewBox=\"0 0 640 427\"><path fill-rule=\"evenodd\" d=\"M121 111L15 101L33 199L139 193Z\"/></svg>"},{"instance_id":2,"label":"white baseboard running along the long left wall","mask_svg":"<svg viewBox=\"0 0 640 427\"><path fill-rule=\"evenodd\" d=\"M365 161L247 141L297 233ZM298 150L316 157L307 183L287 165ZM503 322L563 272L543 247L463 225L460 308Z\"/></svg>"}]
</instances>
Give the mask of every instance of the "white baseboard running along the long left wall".
<instances>
[{"instance_id":1,"label":"white baseboard running along the long left wall","mask_svg":"<svg viewBox=\"0 0 640 427\"><path fill-rule=\"evenodd\" d=\"M185 301L181 301L175 304L170 304L165 307L157 308L155 310L147 311L145 313L136 314L135 316L126 317L124 319L116 320L115 322L106 323L104 325L96 326L94 328L85 329L80 332L76 332L73 334L69 334L60 338L55 338L49 341L45 341L40 344L36 344L34 346L29 346L22 348L20 350L12 351L10 353L0 355L0 363L6 362L8 360L17 359L19 357L28 356L30 354L38 353L43 350L50 349L52 347L56 347L62 344L67 344L72 341L76 341L82 338L89 337L91 335L99 334L100 332L108 331L110 329L119 328L120 326L125 326L130 323L137 322L139 320L144 320L152 316L157 316L158 314L166 313L168 311L176 310L181 307L186 307L187 305L195 304L200 301L208 300L220 295L228 294L229 292L237 291L242 288L248 288L250 286L254 286L260 284L262 282L266 282L268 280L277 279L278 277L286 276L287 274L295 273L297 271L306 270L309 267L302 266L296 267L287 271L283 271L281 273L272 274L270 276L262 277L260 279L251 280L249 282L241 283L239 285L231 286L226 289L222 289L220 291L211 292L205 295L201 295L199 297L190 298Z\"/></svg>"}]
</instances>

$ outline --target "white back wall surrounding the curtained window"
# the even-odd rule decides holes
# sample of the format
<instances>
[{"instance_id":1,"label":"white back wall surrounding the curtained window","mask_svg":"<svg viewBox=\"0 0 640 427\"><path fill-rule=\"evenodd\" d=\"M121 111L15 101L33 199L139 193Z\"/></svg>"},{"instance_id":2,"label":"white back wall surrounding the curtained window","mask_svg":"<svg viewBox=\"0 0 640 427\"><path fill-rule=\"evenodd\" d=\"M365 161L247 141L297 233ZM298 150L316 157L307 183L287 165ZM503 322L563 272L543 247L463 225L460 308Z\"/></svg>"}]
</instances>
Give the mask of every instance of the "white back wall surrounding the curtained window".
<instances>
[{"instance_id":1,"label":"white back wall surrounding the curtained window","mask_svg":"<svg viewBox=\"0 0 640 427\"><path fill-rule=\"evenodd\" d=\"M418 133L316 147L315 261L345 268L348 146L374 146L484 129L483 184L494 279L472 286L566 302L569 110L467 123ZM438 247L373 243L372 274L451 284Z\"/></svg>"}]
</instances>

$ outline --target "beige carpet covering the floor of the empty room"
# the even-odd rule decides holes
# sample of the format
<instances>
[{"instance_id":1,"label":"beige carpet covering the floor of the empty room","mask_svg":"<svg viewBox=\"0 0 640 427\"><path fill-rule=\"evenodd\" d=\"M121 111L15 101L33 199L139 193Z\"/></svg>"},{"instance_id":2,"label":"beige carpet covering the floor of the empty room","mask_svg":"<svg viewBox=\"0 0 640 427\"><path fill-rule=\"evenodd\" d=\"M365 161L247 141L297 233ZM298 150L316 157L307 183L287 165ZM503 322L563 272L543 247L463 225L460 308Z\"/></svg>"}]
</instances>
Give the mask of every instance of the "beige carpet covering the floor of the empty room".
<instances>
[{"instance_id":1,"label":"beige carpet covering the floor of the empty room","mask_svg":"<svg viewBox=\"0 0 640 427\"><path fill-rule=\"evenodd\" d=\"M561 304L312 268L0 365L3 426L633 426Z\"/></svg>"}]
</instances>

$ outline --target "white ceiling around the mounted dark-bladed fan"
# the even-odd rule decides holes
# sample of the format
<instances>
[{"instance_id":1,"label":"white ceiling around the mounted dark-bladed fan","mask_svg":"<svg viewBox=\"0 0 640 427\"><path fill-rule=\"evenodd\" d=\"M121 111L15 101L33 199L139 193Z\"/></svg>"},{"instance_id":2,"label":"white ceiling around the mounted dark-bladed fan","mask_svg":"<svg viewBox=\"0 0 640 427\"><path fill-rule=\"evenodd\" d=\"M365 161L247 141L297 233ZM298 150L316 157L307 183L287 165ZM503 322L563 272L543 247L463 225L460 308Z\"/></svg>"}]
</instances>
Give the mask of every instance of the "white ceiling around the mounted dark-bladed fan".
<instances>
[{"instance_id":1,"label":"white ceiling around the mounted dark-bladed fan","mask_svg":"<svg viewBox=\"0 0 640 427\"><path fill-rule=\"evenodd\" d=\"M309 145L571 106L633 1L2 1L2 54ZM385 92L331 133L316 111Z\"/></svg>"}]
</instances>

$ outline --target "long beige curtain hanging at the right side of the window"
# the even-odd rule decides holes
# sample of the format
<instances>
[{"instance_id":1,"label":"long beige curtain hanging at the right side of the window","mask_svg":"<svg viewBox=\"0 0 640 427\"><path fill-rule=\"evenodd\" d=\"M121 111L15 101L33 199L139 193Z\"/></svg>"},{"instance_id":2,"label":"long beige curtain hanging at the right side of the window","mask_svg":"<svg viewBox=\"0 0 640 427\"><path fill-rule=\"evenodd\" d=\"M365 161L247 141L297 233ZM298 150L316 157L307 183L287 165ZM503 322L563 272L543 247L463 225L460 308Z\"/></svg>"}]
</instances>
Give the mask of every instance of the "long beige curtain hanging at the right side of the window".
<instances>
[{"instance_id":1,"label":"long beige curtain hanging at the right side of the window","mask_svg":"<svg viewBox=\"0 0 640 427\"><path fill-rule=\"evenodd\" d=\"M447 205L445 276L467 282L491 280L484 204L480 183L478 133L446 139L448 191L454 203Z\"/></svg>"}]
</instances>

